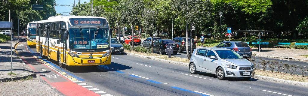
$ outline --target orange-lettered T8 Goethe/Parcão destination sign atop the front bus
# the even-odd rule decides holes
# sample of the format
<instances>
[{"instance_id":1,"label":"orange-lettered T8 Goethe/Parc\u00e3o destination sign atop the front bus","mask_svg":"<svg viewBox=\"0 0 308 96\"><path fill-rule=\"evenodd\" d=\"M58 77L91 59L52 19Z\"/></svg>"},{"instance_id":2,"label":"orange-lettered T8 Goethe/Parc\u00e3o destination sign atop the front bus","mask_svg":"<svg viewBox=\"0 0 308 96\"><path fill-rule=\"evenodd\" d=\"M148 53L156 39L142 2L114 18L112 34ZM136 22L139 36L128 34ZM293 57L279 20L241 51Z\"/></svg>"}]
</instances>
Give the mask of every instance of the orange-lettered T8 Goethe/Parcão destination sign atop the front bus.
<instances>
[{"instance_id":1,"label":"orange-lettered T8 Goethe/Parc\u00e3o destination sign atop the front bus","mask_svg":"<svg viewBox=\"0 0 308 96\"><path fill-rule=\"evenodd\" d=\"M106 19L103 18L71 18L72 26L105 26Z\"/></svg>"}]
</instances>

